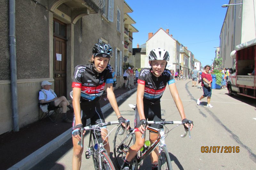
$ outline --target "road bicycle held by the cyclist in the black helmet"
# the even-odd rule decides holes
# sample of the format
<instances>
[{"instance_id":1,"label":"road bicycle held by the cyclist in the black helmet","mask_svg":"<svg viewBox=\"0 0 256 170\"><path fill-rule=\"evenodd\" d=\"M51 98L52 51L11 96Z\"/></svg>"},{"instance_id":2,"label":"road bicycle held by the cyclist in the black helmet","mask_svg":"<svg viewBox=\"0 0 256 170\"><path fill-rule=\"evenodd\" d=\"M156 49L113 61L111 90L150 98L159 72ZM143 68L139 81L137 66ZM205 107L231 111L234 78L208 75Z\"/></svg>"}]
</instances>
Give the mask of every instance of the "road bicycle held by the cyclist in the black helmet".
<instances>
[{"instance_id":1,"label":"road bicycle held by the cyclist in the black helmet","mask_svg":"<svg viewBox=\"0 0 256 170\"><path fill-rule=\"evenodd\" d=\"M85 152L85 158L89 159L92 155L95 170L115 170L115 167L111 159L109 158L107 151L104 149L104 144L103 144L104 141L102 140L101 130L100 130L105 126L115 125L115 124L120 124L120 123L118 121L112 121L112 122L106 122L106 123L96 122L95 125L86 126L80 129L81 140L78 142L78 144L81 147L83 147L83 140L84 140L83 131L90 130L89 145L88 145L89 147L87 146L88 150ZM109 136L110 132L108 133L108 135L106 134L106 137Z\"/></svg>"}]
</instances>

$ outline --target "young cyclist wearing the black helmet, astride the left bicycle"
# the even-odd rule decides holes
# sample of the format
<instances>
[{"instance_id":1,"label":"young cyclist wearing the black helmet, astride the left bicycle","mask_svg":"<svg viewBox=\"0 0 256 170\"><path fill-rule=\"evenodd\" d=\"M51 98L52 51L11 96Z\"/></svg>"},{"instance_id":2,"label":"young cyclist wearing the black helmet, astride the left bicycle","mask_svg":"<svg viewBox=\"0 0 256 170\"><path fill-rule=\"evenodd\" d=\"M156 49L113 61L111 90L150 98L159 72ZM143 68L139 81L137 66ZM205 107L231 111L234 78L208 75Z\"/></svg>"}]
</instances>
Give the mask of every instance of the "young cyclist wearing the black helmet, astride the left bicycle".
<instances>
[{"instance_id":1,"label":"young cyclist wearing the black helmet, astride the left bicycle","mask_svg":"<svg viewBox=\"0 0 256 170\"><path fill-rule=\"evenodd\" d=\"M72 82L73 87L73 170L80 169L83 148L78 145L81 140L80 128L86 126L86 119L91 118L91 124L95 121L105 122L103 113L100 107L100 97L103 94L105 85L107 86L108 100L116 112L119 122L124 122L125 119L119 112L115 94L113 92L113 78L111 66L108 64L112 57L113 50L109 44L97 43L92 49L92 63L88 65L78 65L74 71ZM124 125L124 124L123 124ZM102 128L102 139L106 138L107 130ZM107 143L107 144L106 144ZM110 148L108 139L105 139L104 147L109 154Z\"/></svg>"}]
</instances>

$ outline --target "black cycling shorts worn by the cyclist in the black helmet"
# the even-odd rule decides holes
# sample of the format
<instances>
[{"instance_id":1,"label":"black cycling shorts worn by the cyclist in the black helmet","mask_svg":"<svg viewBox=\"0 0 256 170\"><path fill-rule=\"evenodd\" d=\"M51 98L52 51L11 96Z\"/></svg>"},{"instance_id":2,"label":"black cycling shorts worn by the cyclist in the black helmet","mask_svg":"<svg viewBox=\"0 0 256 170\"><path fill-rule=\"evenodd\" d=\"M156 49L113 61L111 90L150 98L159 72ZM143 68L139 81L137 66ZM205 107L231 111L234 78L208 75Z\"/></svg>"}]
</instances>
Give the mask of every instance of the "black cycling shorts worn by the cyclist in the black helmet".
<instances>
[{"instance_id":1,"label":"black cycling shorts worn by the cyclist in the black helmet","mask_svg":"<svg viewBox=\"0 0 256 170\"><path fill-rule=\"evenodd\" d=\"M105 123L105 118L104 115L101 111L100 107L100 102L81 102L80 103L81 107L81 120L82 124L85 127L86 126L86 120L91 119L91 125L95 125L96 121L100 121L102 123ZM75 114L73 114L73 125L72 125L72 130L74 130L74 127L76 125L76 118Z\"/></svg>"}]
</instances>

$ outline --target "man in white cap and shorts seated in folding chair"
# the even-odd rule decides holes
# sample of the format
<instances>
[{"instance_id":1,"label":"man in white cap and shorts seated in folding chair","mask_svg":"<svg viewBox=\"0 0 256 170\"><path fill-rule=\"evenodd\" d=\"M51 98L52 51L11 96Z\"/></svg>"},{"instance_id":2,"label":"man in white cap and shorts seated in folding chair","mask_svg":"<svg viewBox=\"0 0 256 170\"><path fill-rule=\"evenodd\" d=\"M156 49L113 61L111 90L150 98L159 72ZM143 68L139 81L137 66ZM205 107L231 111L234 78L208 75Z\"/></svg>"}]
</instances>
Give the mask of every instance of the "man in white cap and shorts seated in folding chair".
<instances>
[{"instance_id":1,"label":"man in white cap and shorts seated in folding chair","mask_svg":"<svg viewBox=\"0 0 256 170\"><path fill-rule=\"evenodd\" d=\"M41 104L48 103L48 110L54 110L56 107L62 107L62 112L64 116L62 121L66 123L71 123L72 121L67 118L67 107L74 112L73 107L70 106L68 100L65 96L57 97L55 92L51 89L52 83L48 81L43 81L41 86L43 89L39 92L39 102Z\"/></svg>"}]
</instances>

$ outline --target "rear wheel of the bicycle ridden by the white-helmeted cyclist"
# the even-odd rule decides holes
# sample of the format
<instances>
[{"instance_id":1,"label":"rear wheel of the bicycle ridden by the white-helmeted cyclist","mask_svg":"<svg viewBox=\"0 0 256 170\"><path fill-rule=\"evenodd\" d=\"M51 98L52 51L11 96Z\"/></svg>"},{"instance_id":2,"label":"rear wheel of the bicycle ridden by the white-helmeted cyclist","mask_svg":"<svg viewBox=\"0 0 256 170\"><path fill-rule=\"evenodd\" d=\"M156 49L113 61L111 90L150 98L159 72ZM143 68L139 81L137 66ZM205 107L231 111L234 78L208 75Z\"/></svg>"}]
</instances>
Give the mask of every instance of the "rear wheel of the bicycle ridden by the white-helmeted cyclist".
<instances>
[{"instance_id":1,"label":"rear wheel of the bicycle ridden by the white-helmeted cyclist","mask_svg":"<svg viewBox=\"0 0 256 170\"><path fill-rule=\"evenodd\" d=\"M120 144L123 142L124 138L127 137L127 131L125 130L124 134L119 135L118 132L120 131L120 129L122 128L122 125L120 125L117 130L116 130L116 134L114 137L114 157L116 160L116 164L119 168L121 168L121 166L124 163L124 159L126 154L121 150L121 148L125 151L128 152L129 148L133 145L133 140L132 140L132 135L131 137L127 138L126 141L124 142L124 144L122 145L122 147L120 147Z\"/></svg>"}]
</instances>

